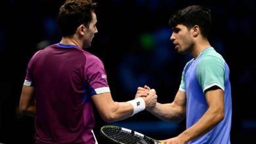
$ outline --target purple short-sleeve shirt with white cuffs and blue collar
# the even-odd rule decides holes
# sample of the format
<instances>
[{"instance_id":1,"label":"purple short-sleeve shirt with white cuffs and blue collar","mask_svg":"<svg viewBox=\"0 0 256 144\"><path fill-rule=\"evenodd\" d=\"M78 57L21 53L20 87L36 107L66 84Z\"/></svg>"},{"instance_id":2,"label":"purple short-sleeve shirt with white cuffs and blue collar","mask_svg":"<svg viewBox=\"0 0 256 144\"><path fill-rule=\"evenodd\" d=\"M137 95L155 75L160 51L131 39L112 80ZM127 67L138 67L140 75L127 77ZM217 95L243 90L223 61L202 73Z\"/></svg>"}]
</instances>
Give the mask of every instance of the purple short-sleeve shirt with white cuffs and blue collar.
<instances>
[{"instance_id":1,"label":"purple short-sleeve shirt with white cuffs and blue collar","mask_svg":"<svg viewBox=\"0 0 256 144\"><path fill-rule=\"evenodd\" d=\"M74 45L48 46L33 55L24 85L35 89L36 143L95 143L91 96L110 92L99 58Z\"/></svg>"}]
</instances>

